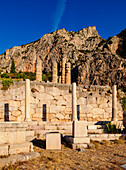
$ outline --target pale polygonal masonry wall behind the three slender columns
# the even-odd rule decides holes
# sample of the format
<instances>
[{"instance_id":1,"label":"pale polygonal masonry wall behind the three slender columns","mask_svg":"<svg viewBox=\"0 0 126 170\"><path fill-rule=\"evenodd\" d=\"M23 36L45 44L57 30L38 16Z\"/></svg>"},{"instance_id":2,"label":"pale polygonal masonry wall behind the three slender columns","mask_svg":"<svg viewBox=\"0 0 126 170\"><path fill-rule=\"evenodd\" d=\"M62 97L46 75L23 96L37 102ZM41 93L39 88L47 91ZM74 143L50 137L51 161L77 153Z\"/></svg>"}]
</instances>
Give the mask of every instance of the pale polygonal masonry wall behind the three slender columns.
<instances>
[{"instance_id":1,"label":"pale polygonal masonry wall behind the three slender columns","mask_svg":"<svg viewBox=\"0 0 126 170\"><path fill-rule=\"evenodd\" d=\"M30 115L33 121L70 121L72 117L72 86L31 82ZM2 84L0 84L0 89ZM77 86L77 109L80 120L103 121L112 118L112 90L109 86ZM5 106L10 121L25 119L25 82L15 82L8 90L0 90L0 121L4 121ZM123 119L120 101L117 118Z\"/></svg>"}]
</instances>

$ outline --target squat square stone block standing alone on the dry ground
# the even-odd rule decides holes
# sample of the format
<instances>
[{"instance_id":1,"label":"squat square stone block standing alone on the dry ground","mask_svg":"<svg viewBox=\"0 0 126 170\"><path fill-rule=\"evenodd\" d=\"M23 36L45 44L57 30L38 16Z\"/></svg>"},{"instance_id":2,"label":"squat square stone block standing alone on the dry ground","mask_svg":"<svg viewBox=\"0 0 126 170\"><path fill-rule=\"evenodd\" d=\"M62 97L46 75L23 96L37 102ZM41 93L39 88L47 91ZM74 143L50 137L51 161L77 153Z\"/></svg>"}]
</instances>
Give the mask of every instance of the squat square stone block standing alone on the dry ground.
<instances>
[{"instance_id":1,"label":"squat square stone block standing alone on the dry ground","mask_svg":"<svg viewBox=\"0 0 126 170\"><path fill-rule=\"evenodd\" d=\"M46 149L59 150L61 149L60 133L46 133Z\"/></svg>"}]
</instances>

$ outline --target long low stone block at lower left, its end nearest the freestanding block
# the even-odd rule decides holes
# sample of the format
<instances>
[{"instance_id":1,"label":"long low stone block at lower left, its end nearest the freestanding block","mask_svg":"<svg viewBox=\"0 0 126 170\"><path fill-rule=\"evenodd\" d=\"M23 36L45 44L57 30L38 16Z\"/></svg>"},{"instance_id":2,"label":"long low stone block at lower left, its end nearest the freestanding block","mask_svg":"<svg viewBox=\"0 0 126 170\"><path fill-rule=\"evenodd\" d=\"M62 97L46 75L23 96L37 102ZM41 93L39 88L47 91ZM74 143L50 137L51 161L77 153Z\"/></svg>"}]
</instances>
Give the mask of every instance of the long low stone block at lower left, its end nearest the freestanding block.
<instances>
[{"instance_id":1,"label":"long low stone block at lower left, its end nearest the freestanding block","mask_svg":"<svg viewBox=\"0 0 126 170\"><path fill-rule=\"evenodd\" d=\"M33 150L33 144L31 142L9 145L9 154L10 155L30 152L32 150Z\"/></svg>"}]
</instances>

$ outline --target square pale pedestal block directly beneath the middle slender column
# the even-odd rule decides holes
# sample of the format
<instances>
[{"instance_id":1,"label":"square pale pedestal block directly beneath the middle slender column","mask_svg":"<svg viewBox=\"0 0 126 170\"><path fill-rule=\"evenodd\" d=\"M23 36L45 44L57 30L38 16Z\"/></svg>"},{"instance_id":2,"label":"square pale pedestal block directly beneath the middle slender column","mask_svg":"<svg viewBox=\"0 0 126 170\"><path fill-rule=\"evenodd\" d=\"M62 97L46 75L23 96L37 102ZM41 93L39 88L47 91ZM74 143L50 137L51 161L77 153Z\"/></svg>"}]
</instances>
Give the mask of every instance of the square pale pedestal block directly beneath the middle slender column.
<instances>
[{"instance_id":1,"label":"square pale pedestal block directly beneath the middle slender column","mask_svg":"<svg viewBox=\"0 0 126 170\"><path fill-rule=\"evenodd\" d=\"M73 137L83 138L87 136L87 121L73 121Z\"/></svg>"}]
</instances>

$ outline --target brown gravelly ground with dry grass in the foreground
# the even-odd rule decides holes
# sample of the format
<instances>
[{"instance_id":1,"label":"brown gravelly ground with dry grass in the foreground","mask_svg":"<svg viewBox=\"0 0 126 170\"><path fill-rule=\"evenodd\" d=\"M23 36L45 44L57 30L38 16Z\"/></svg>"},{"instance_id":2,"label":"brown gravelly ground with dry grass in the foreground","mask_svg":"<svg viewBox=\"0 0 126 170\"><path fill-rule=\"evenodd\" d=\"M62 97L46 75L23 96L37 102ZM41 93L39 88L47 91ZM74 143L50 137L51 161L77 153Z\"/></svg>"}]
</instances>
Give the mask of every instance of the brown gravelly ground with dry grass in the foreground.
<instances>
[{"instance_id":1,"label":"brown gravelly ground with dry grass in the foreground","mask_svg":"<svg viewBox=\"0 0 126 170\"><path fill-rule=\"evenodd\" d=\"M95 149L84 149L83 152L72 150L62 145L60 151L48 151L40 147L34 150L41 156L25 162L17 162L14 165L2 169L123 169L120 165L126 163L125 142L94 142Z\"/></svg>"}]
</instances>

